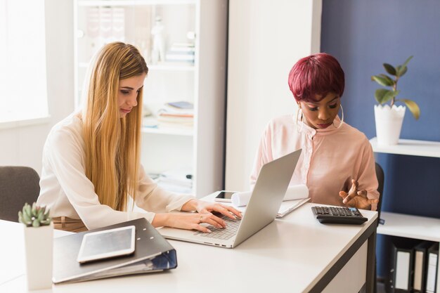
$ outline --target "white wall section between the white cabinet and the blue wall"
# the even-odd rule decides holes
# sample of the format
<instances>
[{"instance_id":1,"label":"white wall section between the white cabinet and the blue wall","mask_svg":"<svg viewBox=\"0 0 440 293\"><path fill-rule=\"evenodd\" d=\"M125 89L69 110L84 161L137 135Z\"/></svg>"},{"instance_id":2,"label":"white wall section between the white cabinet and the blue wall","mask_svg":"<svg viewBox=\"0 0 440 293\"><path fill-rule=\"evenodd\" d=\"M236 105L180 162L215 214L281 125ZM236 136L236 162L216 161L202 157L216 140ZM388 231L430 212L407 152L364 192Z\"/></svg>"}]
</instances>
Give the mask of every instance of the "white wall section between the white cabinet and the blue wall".
<instances>
[{"instance_id":1,"label":"white wall section between the white cabinet and the blue wall","mask_svg":"<svg viewBox=\"0 0 440 293\"><path fill-rule=\"evenodd\" d=\"M226 122L227 190L249 190L268 121L296 111L292 66L318 53L322 1L230 0Z\"/></svg>"}]
</instances>

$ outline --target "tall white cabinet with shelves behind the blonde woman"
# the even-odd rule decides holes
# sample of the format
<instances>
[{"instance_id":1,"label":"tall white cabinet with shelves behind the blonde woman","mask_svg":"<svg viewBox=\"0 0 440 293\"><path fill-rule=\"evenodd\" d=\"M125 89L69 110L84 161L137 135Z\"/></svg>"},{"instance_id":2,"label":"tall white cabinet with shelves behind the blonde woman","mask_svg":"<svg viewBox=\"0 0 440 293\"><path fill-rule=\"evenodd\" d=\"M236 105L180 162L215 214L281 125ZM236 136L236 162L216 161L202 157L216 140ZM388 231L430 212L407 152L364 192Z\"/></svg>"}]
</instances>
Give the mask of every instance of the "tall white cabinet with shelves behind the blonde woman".
<instances>
[{"instance_id":1,"label":"tall white cabinet with shelves behind the blonde woman","mask_svg":"<svg viewBox=\"0 0 440 293\"><path fill-rule=\"evenodd\" d=\"M93 54L110 41L133 44L149 68L143 97L144 115L151 113L143 119L145 171L179 175L181 183L167 188L198 197L222 189L228 2L77 0L74 11L75 108L82 103ZM179 101L193 105L186 117L159 115L173 109L167 103Z\"/></svg>"}]
</instances>

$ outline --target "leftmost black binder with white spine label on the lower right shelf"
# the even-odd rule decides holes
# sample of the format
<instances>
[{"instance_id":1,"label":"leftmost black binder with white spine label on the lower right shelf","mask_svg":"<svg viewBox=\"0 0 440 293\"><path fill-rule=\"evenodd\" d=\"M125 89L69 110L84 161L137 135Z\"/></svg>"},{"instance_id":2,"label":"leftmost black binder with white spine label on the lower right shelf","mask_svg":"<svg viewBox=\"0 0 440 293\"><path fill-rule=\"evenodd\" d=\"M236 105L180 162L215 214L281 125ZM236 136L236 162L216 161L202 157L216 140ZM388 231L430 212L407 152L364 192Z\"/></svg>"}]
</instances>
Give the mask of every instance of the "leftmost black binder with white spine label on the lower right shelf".
<instances>
[{"instance_id":1,"label":"leftmost black binder with white spine label on the lower right shelf","mask_svg":"<svg viewBox=\"0 0 440 293\"><path fill-rule=\"evenodd\" d=\"M414 246L420 240L401 237L392 238L392 263L389 271L389 291L392 293L411 292L413 287Z\"/></svg>"}]
</instances>

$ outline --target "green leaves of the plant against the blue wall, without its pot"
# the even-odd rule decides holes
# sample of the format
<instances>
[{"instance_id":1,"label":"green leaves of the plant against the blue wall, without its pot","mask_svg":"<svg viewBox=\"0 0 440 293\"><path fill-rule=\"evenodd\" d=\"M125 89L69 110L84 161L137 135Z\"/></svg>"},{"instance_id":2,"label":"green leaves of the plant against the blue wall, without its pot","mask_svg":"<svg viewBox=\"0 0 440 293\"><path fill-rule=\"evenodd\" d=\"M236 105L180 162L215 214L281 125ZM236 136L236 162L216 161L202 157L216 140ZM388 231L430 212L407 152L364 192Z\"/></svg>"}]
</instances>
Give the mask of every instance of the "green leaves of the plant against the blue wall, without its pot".
<instances>
[{"instance_id":1,"label":"green leaves of the plant against the blue wall, without its pot","mask_svg":"<svg viewBox=\"0 0 440 293\"><path fill-rule=\"evenodd\" d=\"M378 74L373 75L373 77L371 77L371 80L377 82L377 84L380 84L381 86L389 86L391 88L377 89L375 91L375 98L377 100L377 103L380 103L380 105L382 105L383 103L387 103L389 101L390 107L392 107L397 101L404 103L413 114L414 118L417 120L420 117L420 108L417 103L415 103L413 100L408 100L406 98L396 98L396 96L400 93L400 91L397 90L397 82L399 82L399 79L408 70L408 67L406 67L406 65L408 65L408 62L410 62L412 58L413 56L410 56L408 59L406 59L405 63L396 67L388 63L383 64L385 71L388 74L392 75L394 78L389 77L387 74Z\"/></svg>"}]
</instances>

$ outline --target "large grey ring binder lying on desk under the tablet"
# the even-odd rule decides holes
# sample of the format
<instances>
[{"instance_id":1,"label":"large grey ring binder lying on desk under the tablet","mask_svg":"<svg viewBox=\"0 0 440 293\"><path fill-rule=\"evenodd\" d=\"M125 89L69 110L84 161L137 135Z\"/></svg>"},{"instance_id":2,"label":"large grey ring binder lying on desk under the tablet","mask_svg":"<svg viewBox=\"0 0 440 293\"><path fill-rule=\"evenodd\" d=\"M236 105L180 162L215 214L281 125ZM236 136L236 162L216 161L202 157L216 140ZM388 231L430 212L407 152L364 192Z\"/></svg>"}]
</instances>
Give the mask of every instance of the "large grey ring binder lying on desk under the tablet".
<instances>
[{"instance_id":1,"label":"large grey ring binder lying on desk under the tablet","mask_svg":"<svg viewBox=\"0 0 440 293\"><path fill-rule=\"evenodd\" d=\"M79 263L77 255L85 234L134 225L136 248L134 254L91 263ZM144 218L118 223L53 240L53 282L82 282L117 275L152 273L176 268L176 250Z\"/></svg>"}]
</instances>

